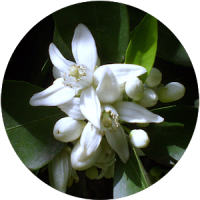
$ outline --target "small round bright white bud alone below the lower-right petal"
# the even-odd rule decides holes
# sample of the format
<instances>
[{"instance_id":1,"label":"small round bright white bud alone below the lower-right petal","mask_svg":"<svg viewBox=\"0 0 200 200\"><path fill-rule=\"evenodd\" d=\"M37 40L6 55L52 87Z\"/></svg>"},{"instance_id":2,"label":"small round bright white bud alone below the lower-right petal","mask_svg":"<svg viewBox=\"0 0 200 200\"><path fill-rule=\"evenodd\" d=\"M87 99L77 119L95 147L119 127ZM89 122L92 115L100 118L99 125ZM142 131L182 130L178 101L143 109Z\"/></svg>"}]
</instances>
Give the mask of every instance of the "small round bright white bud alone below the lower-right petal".
<instances>
[{"instance_id":1,"label":"small round bright white bud alone below the lower-right petal","mask_svg":"<svg viewBox=\"0 0 200 200\"><path fill-rule=\"evenodd\" d=\"M134 129L130 132L130 140L134 147L145 148L148 146L150 140L148 134L142 129Z\"/></svg>"}]
</instances>

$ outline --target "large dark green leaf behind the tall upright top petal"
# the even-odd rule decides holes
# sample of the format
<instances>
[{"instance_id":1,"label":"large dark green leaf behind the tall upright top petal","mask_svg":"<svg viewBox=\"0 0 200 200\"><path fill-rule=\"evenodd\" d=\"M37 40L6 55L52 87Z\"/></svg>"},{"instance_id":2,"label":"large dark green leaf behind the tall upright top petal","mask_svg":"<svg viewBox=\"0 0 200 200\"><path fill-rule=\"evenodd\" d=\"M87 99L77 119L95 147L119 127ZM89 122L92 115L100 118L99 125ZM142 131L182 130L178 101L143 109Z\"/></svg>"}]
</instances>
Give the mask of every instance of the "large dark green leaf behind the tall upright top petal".
<instances>
[{"instance_id":1,"label":"large dark green leaf behind the tall upright top petal","mask_svg":"<svg viewBox=\"0 0 200 200\"><path fill-rule=\"evenodd\" d=\"M92 32L101 64L123 61L129 40L125 4L111 1L78 3L53 12L53 18L56 26L54 41L67 59L72 58L74 30L79 23L83 23Z\"/></svg>"}]
</instances>

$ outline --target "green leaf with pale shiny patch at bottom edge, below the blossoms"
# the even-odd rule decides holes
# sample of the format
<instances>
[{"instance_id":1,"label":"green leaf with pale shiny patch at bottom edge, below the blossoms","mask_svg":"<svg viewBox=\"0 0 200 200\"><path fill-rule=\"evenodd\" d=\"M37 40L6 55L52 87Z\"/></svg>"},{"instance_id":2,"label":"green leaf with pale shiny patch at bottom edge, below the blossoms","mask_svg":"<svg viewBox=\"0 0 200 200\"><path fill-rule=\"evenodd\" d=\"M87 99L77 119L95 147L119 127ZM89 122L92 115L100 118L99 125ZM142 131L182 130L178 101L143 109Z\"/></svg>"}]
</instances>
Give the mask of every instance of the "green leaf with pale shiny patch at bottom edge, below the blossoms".
<instances>
[{"instance_id":1,"label":"green leaf with pale shiny patch at bottom edge, below the blossoms","mask_svg":"<svg viewBox=\"0 0 200 200\"><path fill-rule=\"evenodd\" d=\"M124 164L117 157L115 163L114 199L137 194L150 186L146 172L134 148L130 148L130 158L127 163Z\"/></svg>"}]
</instances>

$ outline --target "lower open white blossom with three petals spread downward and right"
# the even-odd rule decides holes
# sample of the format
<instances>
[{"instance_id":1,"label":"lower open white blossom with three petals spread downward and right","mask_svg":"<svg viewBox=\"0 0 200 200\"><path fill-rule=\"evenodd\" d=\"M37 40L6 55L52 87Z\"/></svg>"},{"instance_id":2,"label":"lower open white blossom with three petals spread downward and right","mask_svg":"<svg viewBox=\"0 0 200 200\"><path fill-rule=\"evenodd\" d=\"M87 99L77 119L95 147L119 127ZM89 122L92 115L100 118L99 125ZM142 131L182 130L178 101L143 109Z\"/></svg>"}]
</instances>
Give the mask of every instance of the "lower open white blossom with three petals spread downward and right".
<instances>
[{"instance_id":1,"label":"lower open white blossom with three petals spread downward and right","mask_svg":"<svg viewBox=\"0 0 200 200\"><path fill-rule=\"evenodd\" d=\"M121 160L127 162L130 156L127 136L118 120L129 123L161 123L164 119L133 102L103 104L100 129L88 122L83 129L80 142L72 151L74 169L85 170L93 166L100 155L99 148L104 135Z\"/></svg>"}]
</instances>

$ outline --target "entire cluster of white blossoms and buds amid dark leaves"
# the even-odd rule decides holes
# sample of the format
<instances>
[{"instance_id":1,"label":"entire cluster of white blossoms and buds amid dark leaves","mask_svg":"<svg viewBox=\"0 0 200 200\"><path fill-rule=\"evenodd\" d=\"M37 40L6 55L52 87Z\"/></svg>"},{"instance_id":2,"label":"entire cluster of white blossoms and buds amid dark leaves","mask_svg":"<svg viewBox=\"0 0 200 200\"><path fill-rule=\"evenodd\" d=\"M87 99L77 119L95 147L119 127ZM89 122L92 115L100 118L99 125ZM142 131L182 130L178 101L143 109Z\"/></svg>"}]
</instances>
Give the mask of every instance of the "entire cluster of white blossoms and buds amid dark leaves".
<instances>
[{"instance_id":1,"label":"entire cluster of white blossoms and buds amid dark leaves","mask_svg":"<svg viewBox=\"0 0 200 200\"><path fill-rule=\"evenodd\" d=\"M158 99L178 100L185 90L180 83L160 84L162 74L156 68L142 83L139 76L147 72L142 66L100 66L95 40L83 24L75 29L72 53L75 62L50 44L56 80L30 99L32 106L58 106L67 114L56 122L53 135L68 145L48 165L50 185L63 193L73 180L78 181L76 170L85 170L91 179L114 177L115 154L124 163L129 159L128 140L137 148L149 143L141 129L133 130L128 138L121 124L163 122L161 116L146 108Z\"/></svg>"}]
</instances>

